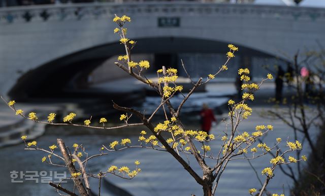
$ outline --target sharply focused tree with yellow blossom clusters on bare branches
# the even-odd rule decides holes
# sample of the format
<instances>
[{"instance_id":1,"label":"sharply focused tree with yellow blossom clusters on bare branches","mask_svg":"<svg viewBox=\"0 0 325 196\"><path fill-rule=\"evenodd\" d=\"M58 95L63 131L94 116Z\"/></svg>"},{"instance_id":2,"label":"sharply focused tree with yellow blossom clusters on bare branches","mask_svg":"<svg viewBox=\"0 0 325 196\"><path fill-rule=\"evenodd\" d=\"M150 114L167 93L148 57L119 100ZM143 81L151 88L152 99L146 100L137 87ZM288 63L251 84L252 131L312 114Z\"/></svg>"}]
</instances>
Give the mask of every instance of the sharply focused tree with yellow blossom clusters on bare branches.
<instances>
[{"instance_id":1,"label":"sharply focused tree with yellow blossom clusters on bare branches","mask_svg":"<svg viewBox=\"0 0 325 196\"><path fill-rule=\"evenodd\" d=\"M51 113L48 116L48 122L43 122L38 120L38 117L34 112L31 112L28 114L28 116L25 116L22 110L15 108L15 101L10 101L8 103L8 106L16 112L16 115L20 115L24 118L28 118L39 123L47 123L52 125L84 126L89 128L102 128L108 130L126 126L144 125L147 127L150 134L147 134L145 130L142 130L139 136L139 144L131 145L131 140L126 138L122 139L121 141L114 141L108 146L103 145L99 154L91 156L88 156L84 147L78 144L74 144L73 150L70 151L69 148L64 145L64 142L61 139L57 139L57 144L61 154L55 151L57 148L56 145L50 146L50 150L47 150L37 146L36 141L25 142L26 150L40 150L47 152L48 156L43 157L42 161L46 161L48 164L54 166L59 165L52 162L53 157L58 158L61 161L60 166L66 167L71 174L70 178L64 180L73 180L74 185L77 187L80 195L84 196L90 194L90 186L88 183L88 178L90 177L98 178L99 183L101 183L101 179L107 177L108 174L117 175L121 178L131 179L141 171L138 168L138 165L140 164L138 160L135 161L136 166L133 171L127 167L118 168L117 166L110 166L108 167L107 172L100 172L98 175L93 175L86 171L85 168L89 159L105 156L111 151L140 147L170 153L184 168L184 170L186 170L192 176L192 178L202 186L204 195L211 196L215 194L222 173L225 171L230 161L236 161L238 159L255 159L266 155L272 150L276 150L277 146L281 142L281 138L278 138L276 140L276 144L270 147L265 143L256 143L258 138L266 135L273 129L272 125L257 125L255 127L255 130L252 130L250 134L248 132L242 132L238 128L239 124L243 120L247 120L252 113L252 109L247 105L247 102L254 100L253 93L259 89L265 80L273 78L271 74L268 74L266 79L263 79L261 83L257 84L250 82L248 69L240 69L238 71L240 79L244 82L242 88L246 90L246 92L243 94L242 99L239 102L236 103L233 100L229 100L228 102L229 119L224 121L225 129L220 138L218 138L222 141L220 150L213 150L207 144L207 142L216 139L213 134L208 135L206 132L201 130L188 130L186 129L186 126L180 121L182 107L189 99L191 94L200 85L206 84L210 80L214 79L220 72L228 70L227 63L229 60L231 60L231 58L235 57L234 54L236 51L238 51L238 48L236 46L232 44L228 45L229 51L226 53L225 63L221 67L216 68L215 73L209 74L205 79L200 78L198 81L193 81L188 75L188 78L191 80L193 86L185 95L182 93L183 87L176 84L176 80L178 78L176 69L166 69L165 67L162 67L160 70L157 70L157 82L153 82L143 76L142 71L148 69L150 67L150 63L147 60L135 62L131 58L132 49L135 47L136 41L126 38L127 31L126 28L124 28L125 23L130 22L131 18L127 16L118 17L115 15L113 21L118 25L118 27L114 29L114 33L119 35L120 43L123 44L125 48L125 55L118 57L118 62L115 62L116 66L118 66L120 69L135 79L149 85L161 97L159 106L151 113L151 115L144 115L140 111L137 111L133 108L123 107L113 103L113 107L116 110L125 112L120 116L120 120L124 122L124 125L107 127L105 126L105 123L107 122L106 118L101 118L99 121L103 124L103 126L92 126L91 118L86 119L84 121L84 124L76 124L73 123L73 119L76 117L75 113L70 113L64 117L63 123L54 122L55 114ZM185 66L183 66L183 69L185 73L187 73ZM178 107L174 108L170 100L173 99L177 93L182 93L184 97ZM164 111L166 119L158 124L153 124L152 119L159 110ZM131 118L133 115L138 117L138 123L128 123L129 118ZM23 136L22 139L25 141L26 137ZM288 159L284 159L284 154L302 149L302 145L299 141L287 141L287 147L288 148L283 151L280 151L279 149L276 150L276 156L270 160L270 166L262 170L262 175L265 176L263 186L258 188L258 190L257 187L250 188L248 190L249 194L256 194L259 196L263 195L267 185L274 176L274 170L277 168L277 166L287 165L291 162L297 162L300 160L306 160L305 156L296 158L289 156ZM85 158L83 158L83 154L86 154ZM182 154L194 156L200 165L201 172L203 174L200 175L198 171L194 171L189 163L182 157ZM213 159L214 164L209 166L205 161L207 158ZM57 190L68 193L69 195L76 195L75 192L63 188L60 184L57 185L50 183L50 185L55 187ZM274 193L273 195L276 196L278 194Z\"/></svg>"}]
</instances>

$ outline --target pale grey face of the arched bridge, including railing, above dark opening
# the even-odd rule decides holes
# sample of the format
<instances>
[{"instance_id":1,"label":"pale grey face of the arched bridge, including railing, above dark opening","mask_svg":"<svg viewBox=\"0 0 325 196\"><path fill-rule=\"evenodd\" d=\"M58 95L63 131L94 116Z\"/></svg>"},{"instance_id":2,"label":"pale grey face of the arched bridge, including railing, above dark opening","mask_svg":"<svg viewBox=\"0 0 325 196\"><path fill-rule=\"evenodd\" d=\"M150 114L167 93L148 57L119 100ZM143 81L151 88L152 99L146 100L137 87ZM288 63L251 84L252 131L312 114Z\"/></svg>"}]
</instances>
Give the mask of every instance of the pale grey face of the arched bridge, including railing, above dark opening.
<instances>
[{"instance_id":1,"label":"pale grey face of the arched bridge, including railing, above dark opening","mask_svg":"<svg viewBox=\"0 0 325 196\"><path fill-rule=\"evenodd\" d=\"M284 59L298 50L318 49L316 41L325 46L325 9L177 2L1 8L0 94L7 94L22 75L45 63L116 43L116 24L112 22L115 13L132 17L126 27L128 37L135 40L211 40ZM49 17L42 17L45 15ZM32 17L27 22L28 16ZM180 25L159 27L161 17L179 18ZM223 50L227 48L216 48L218 52Z\"/></svg>"}]
</instances>

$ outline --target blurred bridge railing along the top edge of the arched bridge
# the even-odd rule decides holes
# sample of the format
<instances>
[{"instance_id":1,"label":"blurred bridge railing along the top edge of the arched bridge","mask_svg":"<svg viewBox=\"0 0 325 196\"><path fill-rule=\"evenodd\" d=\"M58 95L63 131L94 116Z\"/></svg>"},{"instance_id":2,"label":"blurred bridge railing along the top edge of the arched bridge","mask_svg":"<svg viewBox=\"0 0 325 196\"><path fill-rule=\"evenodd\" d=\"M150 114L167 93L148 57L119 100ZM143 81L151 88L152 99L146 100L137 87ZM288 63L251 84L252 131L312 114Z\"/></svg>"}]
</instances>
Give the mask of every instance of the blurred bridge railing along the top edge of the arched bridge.
<instances>
[{"instance_id":1,"label":"blurred bridge railing along the top edge of the arched bridge","mask_svg":"<svg viewBox=\"0 0 325 196\"><path fill-rule=\"evenodd\" d=\"M0 8L0 24L36 21L63 21L112 18L114 14L146 15L216 15L276 19L324 20L325 9L252 4L215 4L198 2L86 3Z\"/></svg>"}]
</instances>

